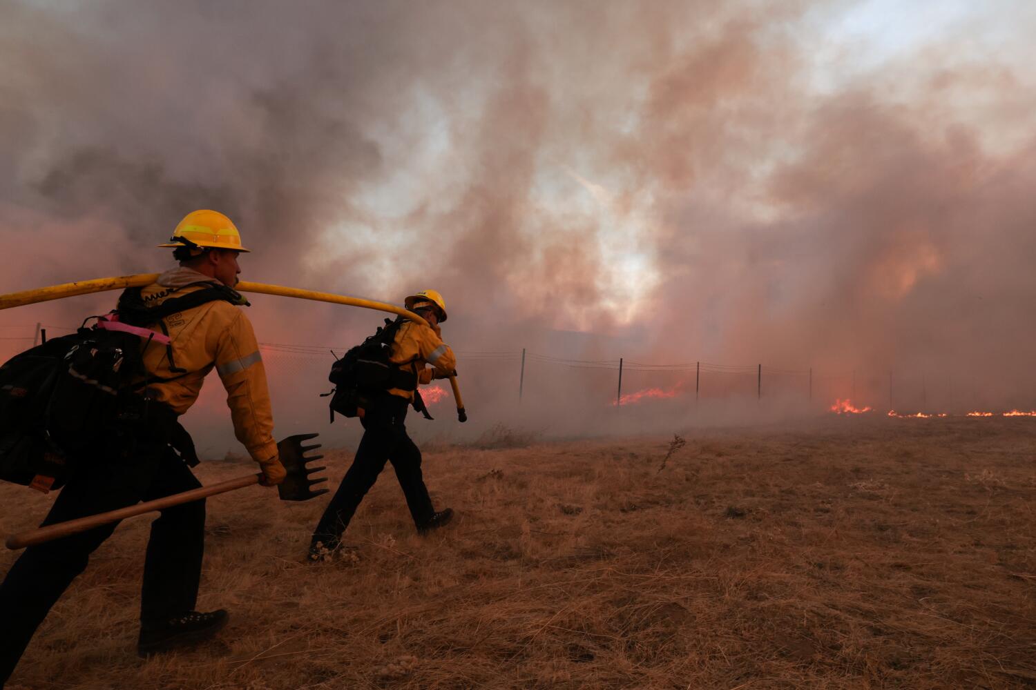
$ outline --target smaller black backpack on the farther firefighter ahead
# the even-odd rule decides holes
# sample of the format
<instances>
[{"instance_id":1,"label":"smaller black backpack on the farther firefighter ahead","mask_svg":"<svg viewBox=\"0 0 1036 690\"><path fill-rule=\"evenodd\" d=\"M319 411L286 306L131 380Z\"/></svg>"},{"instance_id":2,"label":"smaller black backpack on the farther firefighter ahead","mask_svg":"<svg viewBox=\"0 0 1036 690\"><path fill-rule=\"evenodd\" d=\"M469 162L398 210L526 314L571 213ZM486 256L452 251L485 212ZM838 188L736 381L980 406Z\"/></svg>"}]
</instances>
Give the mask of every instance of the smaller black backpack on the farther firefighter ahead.
<instances>
[{"instance_id":1,"label":"smaller black backpack on the farther firefighter ahead","mask_svg":"<svg viewBox=\"0 0 1036 690\"><path fill-rule=\"evenodd\" d=\"M431 419L416 391L416 366L407 371L400 368L400 363L388 361L396 333L406 322L405 317L398 317L396 321L385 319L384 326L379 326L373 335L351 348L342 359L332 364L327 379L335 384L335 389L323 395L330 395L333 422L336 412L344 417L362 416L362 411L371 408L378 393L392 388L414 391L414 409Z\"/></svg>"}]
</instances>

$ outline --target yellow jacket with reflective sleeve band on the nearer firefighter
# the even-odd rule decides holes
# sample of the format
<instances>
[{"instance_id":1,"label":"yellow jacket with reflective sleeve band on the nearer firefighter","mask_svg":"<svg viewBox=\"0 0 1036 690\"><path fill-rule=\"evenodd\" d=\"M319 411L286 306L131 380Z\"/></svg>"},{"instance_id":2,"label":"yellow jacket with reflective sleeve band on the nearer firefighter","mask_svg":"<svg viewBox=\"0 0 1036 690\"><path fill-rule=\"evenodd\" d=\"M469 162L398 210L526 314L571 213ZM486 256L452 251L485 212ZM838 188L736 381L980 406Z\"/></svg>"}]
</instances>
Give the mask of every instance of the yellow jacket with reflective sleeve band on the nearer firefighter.
<instances>
[{"instance_id":1,"label":"yellow jacket with reflective sleeve band on the nearer firefighter","mask_svg":"<svg viewBox=\"0 0 1036 690\"><path fill-rule=\"evenodd\" d=\"M211 282L214 281L197 271L173 269L144 288L141 296L145 302L157 305ZM173 381L149 384L150 396L182 415L198 399L205 376L214 367L227 389L234 436L257 462L276 458L266 369L252 323L244 312L225 300L217 300L171 314L165 319L165 325L173 362L170 363L164 346L151 343L144 351L144 368L150 376ZM186 369L186 373L174 371L173 366Z\"/></svg>"}]
</instances>

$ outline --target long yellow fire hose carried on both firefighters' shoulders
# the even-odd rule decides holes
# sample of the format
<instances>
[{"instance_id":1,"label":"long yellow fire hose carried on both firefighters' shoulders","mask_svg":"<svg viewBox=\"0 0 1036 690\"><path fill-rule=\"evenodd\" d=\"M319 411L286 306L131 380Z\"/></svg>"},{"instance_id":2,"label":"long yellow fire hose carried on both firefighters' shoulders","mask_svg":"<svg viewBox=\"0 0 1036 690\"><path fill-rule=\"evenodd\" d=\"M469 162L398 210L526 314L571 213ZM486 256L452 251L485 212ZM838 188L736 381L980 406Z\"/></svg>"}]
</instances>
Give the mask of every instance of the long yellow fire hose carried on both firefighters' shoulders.
<instances>
[{"instance_id":1,"label":"long yellow fire hose carried on both firefighters' shoulders","mask_svg":"<svg viewBox=\"0 0 1036 690\"><path fill-rule=\"evenodd\" d=\"M66 282L60 286L50 286L49 288L37 288L35 290L23 290L19 293L0 295L0 309L10 309L16 306L26 304L36 304L38 302L49 302L64 297L76 297L78 295L89 295L91 293L103 293L109 290L123 290L125 288L139 288L154 282L159 277L157 273L140 273L138 275L120 275L112 278L96 278L94 280L79 280L77 282ZM345 306L358 306L365 309L376 309L406 317L410 321L426 323L424 319L395 304L385 302L375 302L374 300L362 299L359 297L346 297L333 293L318 293L312 290L300 290L298 288L285 288L283 286L270 286L264 282L238 282L234 290L244 293L261 293L263 295L278 295L281 297L294 297L296 299L308 299L316 302L329 302L332 304L343 304ZM450 387L453 388L454 400L457 402L457 419L461 422L467 421L467 413L464 412L464 400L460 396L460 388L457 386L457 378L450 377Z\"/></svg>"}]
</instances>

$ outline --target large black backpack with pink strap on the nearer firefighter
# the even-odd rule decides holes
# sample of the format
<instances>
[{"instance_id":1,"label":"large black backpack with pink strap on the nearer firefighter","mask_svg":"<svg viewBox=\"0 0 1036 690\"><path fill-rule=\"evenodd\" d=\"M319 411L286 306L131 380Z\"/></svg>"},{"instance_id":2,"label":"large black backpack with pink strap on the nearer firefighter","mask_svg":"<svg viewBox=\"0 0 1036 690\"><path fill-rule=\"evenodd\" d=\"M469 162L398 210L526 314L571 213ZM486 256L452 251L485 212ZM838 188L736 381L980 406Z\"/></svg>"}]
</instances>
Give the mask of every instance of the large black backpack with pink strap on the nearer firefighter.
<instances>
[{"instance_id":1,"label":"large black backpack with pink strap on the nearer firefighter","mask_svg":"<svg viewBox=\"0 0 1036 690\"><path fill-rule=\"evenodd\" d=\"M110 433L113 423L146 413L142 391L163 380L144 369L144 349L161 347L152 340L165 341L172 370L185 373L173 362L162 320L218 299L243 301L233 290L213 286L148 307L141 289L132 288L93 327L84 322L76 333L0 366L0 480L42 491L59 488L75 458ZM163 335L144 328L153 324Z\"/></svg>"}]
</instances>

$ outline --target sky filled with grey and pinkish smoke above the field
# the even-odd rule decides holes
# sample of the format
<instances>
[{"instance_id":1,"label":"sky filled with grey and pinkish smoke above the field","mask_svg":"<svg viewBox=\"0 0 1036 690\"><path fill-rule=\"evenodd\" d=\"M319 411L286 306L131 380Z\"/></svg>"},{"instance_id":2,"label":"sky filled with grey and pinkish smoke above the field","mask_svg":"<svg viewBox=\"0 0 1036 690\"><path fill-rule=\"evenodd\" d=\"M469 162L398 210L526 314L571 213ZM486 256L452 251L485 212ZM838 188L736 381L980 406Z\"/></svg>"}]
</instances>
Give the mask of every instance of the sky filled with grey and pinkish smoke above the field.
<instances>
[{"instance_id":1,"label":"sky filled with grey and pinkish smoke above the field","mask_svg":"<svg viewBox=\"0 0 1036 690\"><path fill-rule=\"evenodd\" d=\"M981 370L1031 397L1033 10L875 57L831 31L853 6L5 3L0 288L159 270L207 207L244 278L433 287L462 351ZM283 342L371 320L253 314Z\"/></svg>"}]
</instances>

